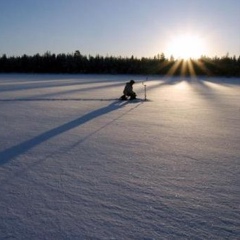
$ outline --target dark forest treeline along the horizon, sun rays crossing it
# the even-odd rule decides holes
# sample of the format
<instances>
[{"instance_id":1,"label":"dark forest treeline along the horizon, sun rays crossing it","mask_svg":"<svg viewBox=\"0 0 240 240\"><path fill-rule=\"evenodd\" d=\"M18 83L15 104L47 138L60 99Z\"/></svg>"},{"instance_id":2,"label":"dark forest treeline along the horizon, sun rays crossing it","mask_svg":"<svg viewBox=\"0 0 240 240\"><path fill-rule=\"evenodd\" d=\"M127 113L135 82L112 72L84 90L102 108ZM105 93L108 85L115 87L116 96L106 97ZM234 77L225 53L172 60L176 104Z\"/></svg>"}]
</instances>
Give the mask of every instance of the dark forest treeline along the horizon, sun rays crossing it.
<instances>
[{"instance_id":1,"label":"dark forest treeline along the horizon, sun rays crossing it","mask_svg":"<svg viewBox=\"0 0 240 240\"><path fill-rule=\"evenodd\" d=\"M158 54L153 58L85 56L80 51L72 54L0 57L1 73L99 73L99 74L160 74L240 76L240 56L183 61Z\"/></svg>"}]
</instances>

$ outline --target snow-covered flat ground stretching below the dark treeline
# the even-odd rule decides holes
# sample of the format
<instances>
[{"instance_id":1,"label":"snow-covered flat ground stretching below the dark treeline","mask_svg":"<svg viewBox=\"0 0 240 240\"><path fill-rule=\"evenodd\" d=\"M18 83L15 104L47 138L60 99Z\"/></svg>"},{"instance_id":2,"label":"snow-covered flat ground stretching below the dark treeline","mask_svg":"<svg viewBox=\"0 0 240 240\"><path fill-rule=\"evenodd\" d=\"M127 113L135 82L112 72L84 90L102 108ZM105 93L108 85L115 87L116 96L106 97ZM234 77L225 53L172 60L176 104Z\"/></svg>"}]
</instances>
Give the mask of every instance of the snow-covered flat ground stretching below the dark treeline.
<instances>
[{"instance_id":1,"label":"snow-covered flat ground stretching below the dark treeline","mask_svg":"<svg viewBox=\"0 0 240 240\"><path fill-rule=\"evenodd\" d=\"M0 75L0 239L239 239L240 79Z\"/></svg>"}]
</instances>

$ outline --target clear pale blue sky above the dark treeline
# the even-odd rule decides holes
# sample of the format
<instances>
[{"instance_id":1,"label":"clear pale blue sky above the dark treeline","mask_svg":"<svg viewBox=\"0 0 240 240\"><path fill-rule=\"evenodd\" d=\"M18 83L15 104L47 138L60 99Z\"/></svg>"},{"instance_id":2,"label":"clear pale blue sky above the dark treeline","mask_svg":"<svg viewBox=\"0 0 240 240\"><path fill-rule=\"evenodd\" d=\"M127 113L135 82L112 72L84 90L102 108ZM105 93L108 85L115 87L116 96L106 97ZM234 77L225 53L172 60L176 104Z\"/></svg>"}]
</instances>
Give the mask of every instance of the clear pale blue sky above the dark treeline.
<instances>
[{"instance_id":1,"label":"clear pale blue sky above the dark treeline","mask_svg":"<svg viewBox=\"0 0 240 240\"><path fill-rule=\"evenodd\" d=\"M0 56L168 57L195 39L201 55L240 56L239 0L0 0L0 11Z\"/></svg>"}]
</instances>

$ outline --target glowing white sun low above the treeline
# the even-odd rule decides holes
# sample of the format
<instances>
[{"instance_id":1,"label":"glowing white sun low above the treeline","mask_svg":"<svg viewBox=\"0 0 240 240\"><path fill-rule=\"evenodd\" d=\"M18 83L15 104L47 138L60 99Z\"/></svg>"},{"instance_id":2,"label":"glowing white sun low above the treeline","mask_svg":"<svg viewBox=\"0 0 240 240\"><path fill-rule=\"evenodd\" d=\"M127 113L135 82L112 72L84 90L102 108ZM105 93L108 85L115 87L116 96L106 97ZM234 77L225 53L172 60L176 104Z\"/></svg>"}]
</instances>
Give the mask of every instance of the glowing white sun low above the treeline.
<instances>
[{"instance_id":1,"label":"glowing white sun low above the treeline","mask_svg":"<svg viewBox=\"0 0 240 240\"><path fill-rule=\"evenodd\" d=\"M204 53L204 40L199 36L183 34L170 40L167 54L175 59L197 59Z\"/></svg>"}]
</instances>

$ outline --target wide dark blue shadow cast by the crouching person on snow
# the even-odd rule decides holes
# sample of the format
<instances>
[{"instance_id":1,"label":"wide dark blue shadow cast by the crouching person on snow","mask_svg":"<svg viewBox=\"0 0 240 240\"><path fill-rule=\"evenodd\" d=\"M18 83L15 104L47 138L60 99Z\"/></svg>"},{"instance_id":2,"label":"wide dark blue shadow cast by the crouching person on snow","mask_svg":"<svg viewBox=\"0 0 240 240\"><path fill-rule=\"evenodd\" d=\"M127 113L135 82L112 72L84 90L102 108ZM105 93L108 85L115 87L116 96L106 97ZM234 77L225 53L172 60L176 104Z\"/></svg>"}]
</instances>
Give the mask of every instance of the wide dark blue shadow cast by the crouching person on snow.
<instances>
[{"instance_id":1,"label":"wide dark blue shadow cast by the crouching person on snow","mask_svg":"<svg viewBox=\"0 0 240 240\"><path fill-rule=\"evenodd\" d=\"M87 113L86 115L84 115L80 118L77 118L77 119L70 121L68 123L65 123L59 127L56 127L47 132L44 132L32 139L29 139L25 142L22 142L13 147L10 147L10 148L0 152L0 165L6 164L7 162L14 159L15 157L29 151L30 149L34 148L35 146L53 138L53 137L56 137L59 134L67 132L73 128L79 127L79 126L85 124L86 122L89 122L97 117L100 117L100 116L108 114L112 111L118 110L118 109L122 108L123 106L125 106L127 103L128 102L115 101L106 107L97 109L90 113Z\"/></svg>"}]
</instances>

